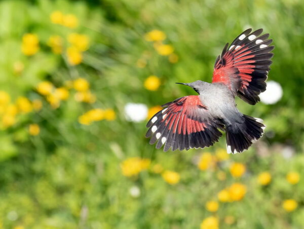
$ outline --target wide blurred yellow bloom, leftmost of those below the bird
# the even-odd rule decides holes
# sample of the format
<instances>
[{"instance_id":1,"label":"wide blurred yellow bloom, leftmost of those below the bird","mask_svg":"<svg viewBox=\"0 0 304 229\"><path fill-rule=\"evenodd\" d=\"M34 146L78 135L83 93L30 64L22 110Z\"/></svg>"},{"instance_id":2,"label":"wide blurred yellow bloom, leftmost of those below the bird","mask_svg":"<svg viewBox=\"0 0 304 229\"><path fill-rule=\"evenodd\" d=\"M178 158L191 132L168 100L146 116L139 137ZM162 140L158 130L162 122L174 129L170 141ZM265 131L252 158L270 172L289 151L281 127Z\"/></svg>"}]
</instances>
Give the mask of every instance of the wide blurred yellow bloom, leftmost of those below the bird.
<instances>
[{"instance_id":1,"label":"wide blurred yellow bloom, leftmost of those below the bird","mask_svg":"<svg viewBox=\"0 0 304 229\"><path fill-rule=\"evenodd\" d=\"M121 163L122 173L126 177L139 174L142 170L146 170L150 165L149 159L141 159L139 157L131 157Z\"/></svg>"}]
</instances>

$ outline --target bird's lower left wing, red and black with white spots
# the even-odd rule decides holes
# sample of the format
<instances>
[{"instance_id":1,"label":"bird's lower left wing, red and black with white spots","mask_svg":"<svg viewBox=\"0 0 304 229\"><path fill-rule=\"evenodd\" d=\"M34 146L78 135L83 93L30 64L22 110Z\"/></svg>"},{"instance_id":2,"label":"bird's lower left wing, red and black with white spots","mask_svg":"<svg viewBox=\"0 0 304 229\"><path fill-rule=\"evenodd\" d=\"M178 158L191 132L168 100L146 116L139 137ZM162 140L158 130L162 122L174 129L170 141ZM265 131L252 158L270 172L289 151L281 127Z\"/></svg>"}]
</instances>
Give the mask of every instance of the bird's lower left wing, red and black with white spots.
<instances>
[{"instance_id":1,"label":"bird's lower left wing, red and black with white spots","mask_svg":"<svg viewBox=\"0 0 304 229\"><path fill-rule=\"evenodd\" d=\"M164 144L164 151L203 148L218 141L223 129L220 119L212 116L198 95L189 95L163 105L167 107L155 114L147 123L146 137L150 144L158 141L156 148Z\"/></svg>"}]
</instances>

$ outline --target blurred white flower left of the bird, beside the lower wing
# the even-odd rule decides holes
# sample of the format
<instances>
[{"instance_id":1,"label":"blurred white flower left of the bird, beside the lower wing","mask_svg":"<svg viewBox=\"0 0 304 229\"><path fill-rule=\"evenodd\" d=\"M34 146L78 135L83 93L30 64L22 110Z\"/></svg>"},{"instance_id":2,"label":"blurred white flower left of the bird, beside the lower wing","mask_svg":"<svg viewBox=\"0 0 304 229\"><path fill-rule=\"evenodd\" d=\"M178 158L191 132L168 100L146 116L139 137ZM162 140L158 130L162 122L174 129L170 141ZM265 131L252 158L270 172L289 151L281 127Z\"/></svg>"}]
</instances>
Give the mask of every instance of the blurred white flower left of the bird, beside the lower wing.
<instances>
[{"instance_id":1,"label":"blurred white flower left of the bird, beside the lower wing","mask_svg":"<svg viewBox=\"0 0 304 229\"><path fill-rule=\"evenodd\" d=\"M140 122L146 119L148 108L144 104L128 103L125 106L125 116L128 121Z\"/></svg>"}]
</instances>

